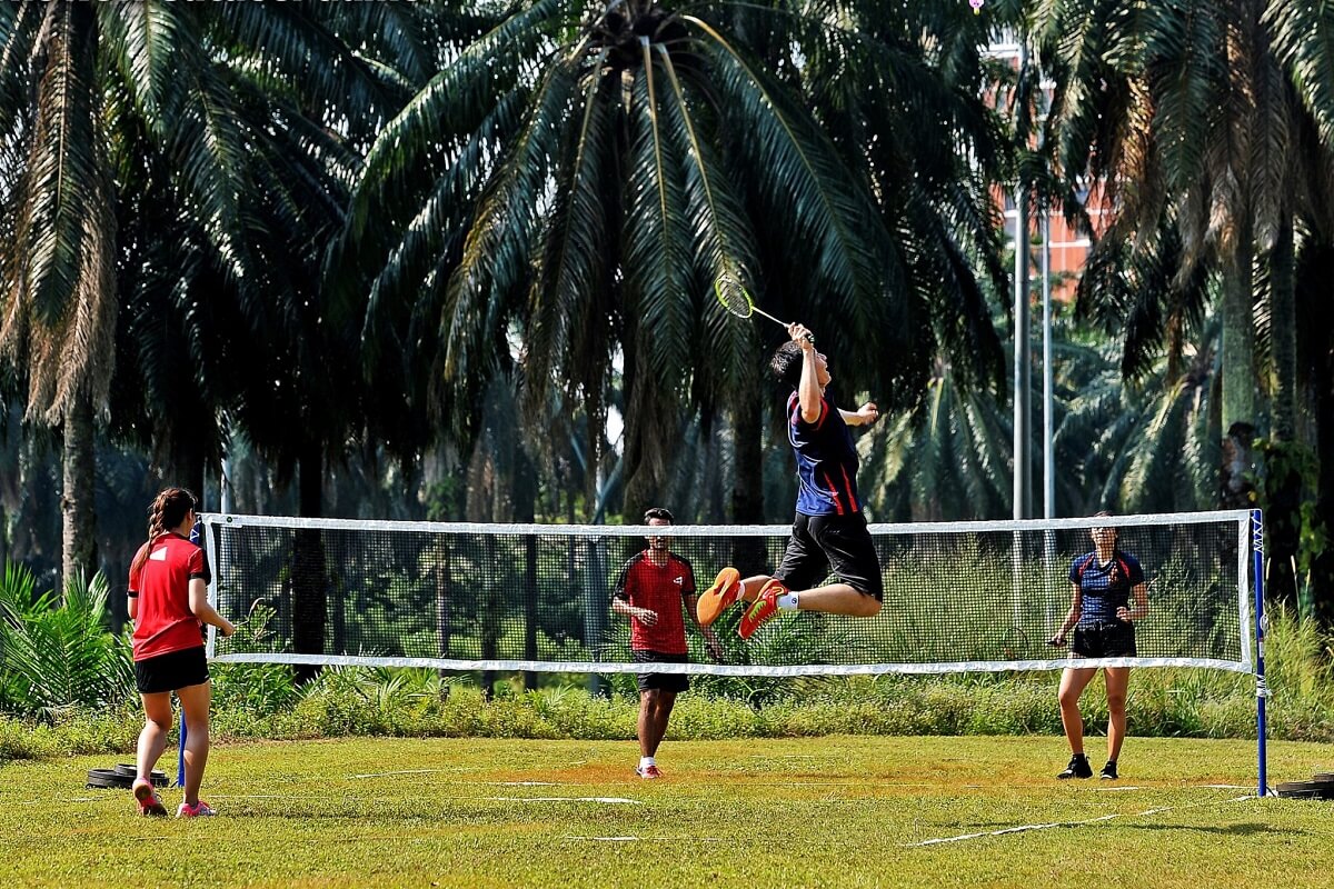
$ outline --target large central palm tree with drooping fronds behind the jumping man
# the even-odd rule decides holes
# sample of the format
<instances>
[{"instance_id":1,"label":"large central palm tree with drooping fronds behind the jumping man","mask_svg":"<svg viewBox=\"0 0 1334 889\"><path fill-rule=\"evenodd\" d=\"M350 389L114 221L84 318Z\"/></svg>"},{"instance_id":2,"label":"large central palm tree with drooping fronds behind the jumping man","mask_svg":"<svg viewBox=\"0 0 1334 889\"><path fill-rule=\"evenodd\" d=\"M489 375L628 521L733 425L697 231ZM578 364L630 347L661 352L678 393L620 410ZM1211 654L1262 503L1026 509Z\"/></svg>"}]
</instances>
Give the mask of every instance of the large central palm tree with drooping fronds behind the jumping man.
<instances>
[{"instance_id":1,"label":"large central palm tree with drooping fronds behind the jumping man","mask_svg":"<svg viewBox=\"0 0 1334 889\"><path fill-rule=\"evenodd\" d=\"M739 469L762 464L778 331L723 311L724 273L811 324L852 392L911 401L935 343L972 341L960 364L991 371L966 257L994 248L994 211L944 159L994 157L994 121L975 79L934 79L976 25L891 5L538 0L460 35L356 187L343 268L368 277L372 376L430 375L471 440L512 353L528 416L560 389L598 443L619 375L632 514L696 411L731 417Z\"/></svg>"}]
</instances>

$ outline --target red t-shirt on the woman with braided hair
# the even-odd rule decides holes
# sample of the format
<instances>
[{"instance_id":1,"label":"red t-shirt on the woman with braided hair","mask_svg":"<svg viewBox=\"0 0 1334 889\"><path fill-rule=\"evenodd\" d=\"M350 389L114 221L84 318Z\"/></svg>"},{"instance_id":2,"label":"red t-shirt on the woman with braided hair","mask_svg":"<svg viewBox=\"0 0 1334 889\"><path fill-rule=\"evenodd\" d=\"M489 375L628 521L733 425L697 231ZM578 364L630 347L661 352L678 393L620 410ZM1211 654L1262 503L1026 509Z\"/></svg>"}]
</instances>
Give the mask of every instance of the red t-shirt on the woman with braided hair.
<instances>
[{"instance_id":1,"label":"red t-shirt on the woman with braided hair","mask_svg":"<svg viewBox=\"0 0 1334 889\"><path fill-rule=\"evenodd\" d=\"M144 552L148 544L139 548ZM203 624L189 610L189 581L204 577L204 550L176 533L163 534L139 569L129 566L129 596L139 597L135 660L203 645Z\"/></svg>"}]
</instances>

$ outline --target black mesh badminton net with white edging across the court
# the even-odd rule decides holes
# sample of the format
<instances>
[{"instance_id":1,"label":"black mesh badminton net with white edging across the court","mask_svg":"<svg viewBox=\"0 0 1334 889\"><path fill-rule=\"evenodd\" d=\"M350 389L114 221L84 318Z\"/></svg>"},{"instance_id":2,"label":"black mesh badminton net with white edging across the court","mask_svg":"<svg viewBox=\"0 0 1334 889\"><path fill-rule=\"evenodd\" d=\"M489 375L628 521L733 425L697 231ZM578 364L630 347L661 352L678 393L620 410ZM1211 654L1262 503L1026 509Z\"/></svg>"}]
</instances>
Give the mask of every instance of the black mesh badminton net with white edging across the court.
<instances>
[{"instance_id":1,"label":"black mesh badminton net with white edging across the court","mask_svg":"<svg viewBox=\"0 0 1334 889\"><path fill-rule=\"evenodd\" d=\"M631 661L630 626L611 600L643 537L263 522L208 518L219 610L244 621L236 637L217 638L215 656L543 661L551 669ZM1135 624L1138 658L1249 664L1239 522L1119 528L1118 549L1143 566L1149 584L1149 613ZM1071 566L1093 549L1087 526L886 528L872 525L884 578L876 617L783 612L742 641L734 606L714 625L724 661L1006 669L1066 656L1047 640L1070 608ZM671 549L692 565L699 590L726 565L743 577L774 570L786 529L747 530L756 533L676 526ZM711 664L694 621L684 625L691 661Z\"/></svg>"}]
</instances>

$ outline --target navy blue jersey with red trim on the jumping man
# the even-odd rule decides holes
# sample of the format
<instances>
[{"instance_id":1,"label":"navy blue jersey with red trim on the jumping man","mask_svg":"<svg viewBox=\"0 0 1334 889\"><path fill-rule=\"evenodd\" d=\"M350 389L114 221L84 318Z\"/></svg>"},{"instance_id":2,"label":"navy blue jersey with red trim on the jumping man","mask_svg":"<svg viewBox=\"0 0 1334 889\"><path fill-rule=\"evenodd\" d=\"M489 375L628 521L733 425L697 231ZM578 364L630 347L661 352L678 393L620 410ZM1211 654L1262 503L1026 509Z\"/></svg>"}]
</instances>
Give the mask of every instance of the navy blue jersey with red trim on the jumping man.
<instances>
[{"instance_id":1,"label":"navy blue jersey with red trim on the jumping man","mask_svg":"<svg viewBox=\"0 0 1334 889\"><path fill-rule=\"evenodd\" d=\"M852 516L862 512L856 494L856 449L852 433L823 396L815 423L802 419L794 392L787 400L787 440L796 454L796 512L806 516Z\"/></svg>"}]
</instances>

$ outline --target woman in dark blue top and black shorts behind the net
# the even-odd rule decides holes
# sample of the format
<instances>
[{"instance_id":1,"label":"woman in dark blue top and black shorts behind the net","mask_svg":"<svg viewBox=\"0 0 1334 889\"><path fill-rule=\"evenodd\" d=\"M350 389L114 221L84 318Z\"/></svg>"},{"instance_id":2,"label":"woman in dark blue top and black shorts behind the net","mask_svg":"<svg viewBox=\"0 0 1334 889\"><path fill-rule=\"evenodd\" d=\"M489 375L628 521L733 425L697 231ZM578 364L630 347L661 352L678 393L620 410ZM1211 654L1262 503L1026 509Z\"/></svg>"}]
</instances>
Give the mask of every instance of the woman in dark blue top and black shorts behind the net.
<instances>
[{"instance_id":1,"label":"woman in dark blue top and black shorts behind the net","mask_svg":"<svg viewBox=\"0 0 1334 889\"><path fill-rule=\"evenodd\" d=\"M1101 512L1099 516L1107 513ZM1149 613L1149 584L1139 561L1117 548L1115 528L1094 528L1093 552L1070 564L1070 613L1053 645L1065 645L1074 629L1070 653L1074 657L1134 657L1135 621ZM1079 696L1098 672L1097 666L1069 666L1061 674L1061 724L1070 741L1070 765L1058 778L1091 778L1093 768L1083 752L1083 714ZM1102 777L1117 778L1117 757L1126 737L1126 688L1129 666L1106 666L1107 682L1107 765Z\"/></svg>"}]
</instances>

